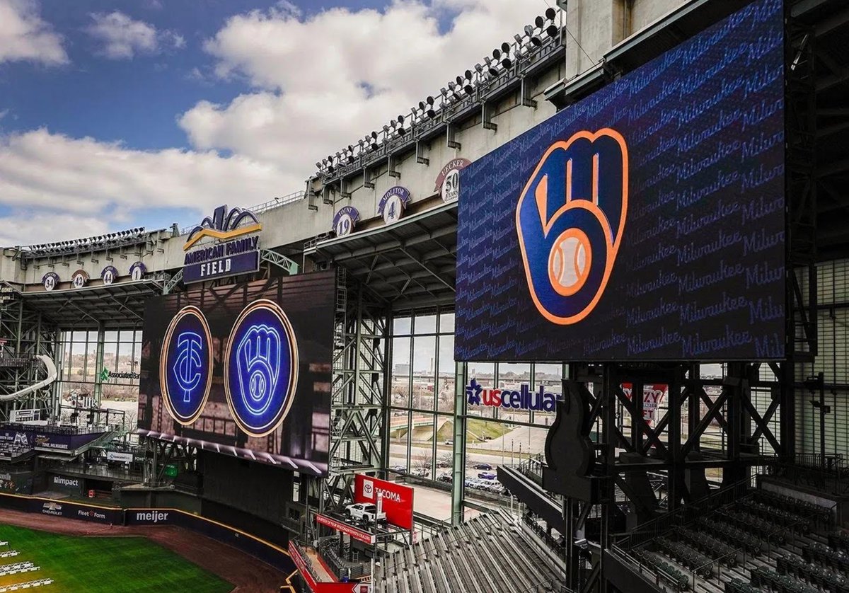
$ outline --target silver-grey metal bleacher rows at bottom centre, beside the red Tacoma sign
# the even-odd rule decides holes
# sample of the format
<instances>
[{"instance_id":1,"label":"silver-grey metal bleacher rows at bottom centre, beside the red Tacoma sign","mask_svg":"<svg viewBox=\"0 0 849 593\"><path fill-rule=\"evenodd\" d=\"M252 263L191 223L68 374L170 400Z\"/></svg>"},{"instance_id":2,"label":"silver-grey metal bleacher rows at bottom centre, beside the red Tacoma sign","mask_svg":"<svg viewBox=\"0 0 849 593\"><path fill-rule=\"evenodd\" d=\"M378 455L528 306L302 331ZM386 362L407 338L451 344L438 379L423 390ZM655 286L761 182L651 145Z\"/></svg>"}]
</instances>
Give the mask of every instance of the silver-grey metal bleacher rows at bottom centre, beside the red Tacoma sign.
<instances>
[{"instance_id":1,"label":"silver-grey metal bleacher rows at bottom centre, beside the red Tacoma sign","mask_svg":"<svg viewBox=\"0 0 849 593\"><path fill-rule=\"evenodd\" d=\"M527 528L499 511L386 556L380 578L398 593L554 593L563 573Z\"/></svg>"}]
</instances>

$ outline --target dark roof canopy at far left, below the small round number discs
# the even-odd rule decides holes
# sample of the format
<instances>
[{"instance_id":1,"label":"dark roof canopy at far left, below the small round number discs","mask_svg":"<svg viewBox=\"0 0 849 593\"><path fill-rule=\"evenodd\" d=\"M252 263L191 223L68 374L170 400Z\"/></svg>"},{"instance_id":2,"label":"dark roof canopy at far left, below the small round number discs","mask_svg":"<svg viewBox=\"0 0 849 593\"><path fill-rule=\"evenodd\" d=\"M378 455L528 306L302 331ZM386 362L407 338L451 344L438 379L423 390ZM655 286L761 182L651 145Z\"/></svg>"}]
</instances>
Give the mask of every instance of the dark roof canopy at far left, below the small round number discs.
<instances>
[{"instance_id":1,"label":"dark roof canopy at far left, below the small round number discs","mask_svg":"<svg viewBox=\"0 0 849 593\"><path fill-rule=\"evenodd\" d=\"M39 287L41 288L41 287ZM144 279L64 290L18 291L25 307L61 327L127 328L142 324L145 303L162 294L163 282Z\"/></svg>"}]
</instances>

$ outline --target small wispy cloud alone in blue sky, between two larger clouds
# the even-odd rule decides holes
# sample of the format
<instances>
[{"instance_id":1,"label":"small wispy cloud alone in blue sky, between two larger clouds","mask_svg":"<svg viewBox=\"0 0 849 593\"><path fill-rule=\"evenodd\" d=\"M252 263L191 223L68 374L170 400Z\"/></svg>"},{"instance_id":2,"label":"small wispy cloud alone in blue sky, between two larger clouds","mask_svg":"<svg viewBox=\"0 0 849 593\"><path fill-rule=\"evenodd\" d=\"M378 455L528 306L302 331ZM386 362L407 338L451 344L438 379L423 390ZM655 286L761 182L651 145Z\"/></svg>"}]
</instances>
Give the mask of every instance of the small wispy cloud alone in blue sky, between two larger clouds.
<instances>
[{"instance_id":1,"label":"small wispy cloud alone in blue sky, between two larger clouds","mask_svg":"<svg viewBox=\"0 0 849 593\"><path fill-rule=\"evenodd\" d=\"M109 59L132 59L138 54L158 54L166 49L181 49L185 38L174 31L157 31L143 20L132 20L115 10L110 14L94 13L87 33L101 44L98 54Z\"/></svg>"}]
</instances>

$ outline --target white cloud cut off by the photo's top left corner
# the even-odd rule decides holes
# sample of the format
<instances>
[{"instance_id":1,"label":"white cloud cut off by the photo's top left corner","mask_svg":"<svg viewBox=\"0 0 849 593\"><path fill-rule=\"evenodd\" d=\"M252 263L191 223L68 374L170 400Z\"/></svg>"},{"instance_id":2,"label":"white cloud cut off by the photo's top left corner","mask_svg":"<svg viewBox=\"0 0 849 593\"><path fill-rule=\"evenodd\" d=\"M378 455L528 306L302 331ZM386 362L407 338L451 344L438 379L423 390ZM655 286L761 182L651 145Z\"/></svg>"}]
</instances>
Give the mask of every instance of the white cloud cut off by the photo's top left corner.
<instances>
[{"instance_id":1,"label":"white cloud cut off by the photo's top left corner","mask_svg":"<svg viewBox=\"0 0 849 593\"><path fill-rule=\"evenodd\" d=\"M59 65L68 54L33 0L0 0L0 63L18 60Z\"/></svg>"}]
</instances>

